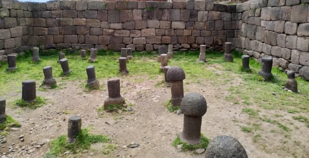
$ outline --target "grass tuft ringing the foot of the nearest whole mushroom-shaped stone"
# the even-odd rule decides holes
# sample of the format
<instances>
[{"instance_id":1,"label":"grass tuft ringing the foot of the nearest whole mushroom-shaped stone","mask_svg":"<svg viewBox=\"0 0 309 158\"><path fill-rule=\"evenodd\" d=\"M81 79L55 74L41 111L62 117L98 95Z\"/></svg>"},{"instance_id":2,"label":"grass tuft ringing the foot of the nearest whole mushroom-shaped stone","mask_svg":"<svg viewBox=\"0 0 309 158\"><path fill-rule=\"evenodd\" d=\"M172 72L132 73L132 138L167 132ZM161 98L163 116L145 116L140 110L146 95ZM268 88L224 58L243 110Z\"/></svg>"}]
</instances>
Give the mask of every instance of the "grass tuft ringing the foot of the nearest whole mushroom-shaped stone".
<instances>
[{"instance_id":1,"label":"grass tuft ringing the foot of the nearest whole mushroom-shaped stone","mask_svg":"<svg viewBox=\"0 0 309 158\"><path fill-rule=\"evenodd\" d=\"M196 149L205 149L207 148L209 142L210 142L210 139L205 137L203 134L201 134L201 143L198 144L198 145L191 145L191 144L187 144L183 141L180 140L180 138L177 136L176 139L172 142L172 145L174 147L177 147L177 145L180 145L182 144L182 147L181 147L181 150L182 151L194 151ZM194 152L195 153L195 152Z\"/></svg>"}]
</instances>

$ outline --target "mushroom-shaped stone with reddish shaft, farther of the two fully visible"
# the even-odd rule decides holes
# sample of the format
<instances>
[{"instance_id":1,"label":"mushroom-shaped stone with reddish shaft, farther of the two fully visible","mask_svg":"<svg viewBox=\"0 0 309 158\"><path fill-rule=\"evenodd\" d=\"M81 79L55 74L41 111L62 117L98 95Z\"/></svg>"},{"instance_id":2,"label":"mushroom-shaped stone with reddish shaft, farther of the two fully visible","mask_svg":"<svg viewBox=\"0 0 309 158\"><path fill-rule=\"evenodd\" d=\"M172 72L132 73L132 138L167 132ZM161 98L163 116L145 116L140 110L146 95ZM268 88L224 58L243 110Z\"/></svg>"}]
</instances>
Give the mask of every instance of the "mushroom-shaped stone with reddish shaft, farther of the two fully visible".
<instances>
[{"instance_id":1,"label":"mushroom-shaped stone with reddish shaft, farther of the two fully visible","mask_svg":"<svg viewBox=\"0 0 309 158\"><path fill-rule=\"evenodd\" d=\"M179 66L171 66L166 75L167 80L171 82L171 106L180 106L184 97L183 80L186 78L184 70Z\"/></svg>"}]
</instances>

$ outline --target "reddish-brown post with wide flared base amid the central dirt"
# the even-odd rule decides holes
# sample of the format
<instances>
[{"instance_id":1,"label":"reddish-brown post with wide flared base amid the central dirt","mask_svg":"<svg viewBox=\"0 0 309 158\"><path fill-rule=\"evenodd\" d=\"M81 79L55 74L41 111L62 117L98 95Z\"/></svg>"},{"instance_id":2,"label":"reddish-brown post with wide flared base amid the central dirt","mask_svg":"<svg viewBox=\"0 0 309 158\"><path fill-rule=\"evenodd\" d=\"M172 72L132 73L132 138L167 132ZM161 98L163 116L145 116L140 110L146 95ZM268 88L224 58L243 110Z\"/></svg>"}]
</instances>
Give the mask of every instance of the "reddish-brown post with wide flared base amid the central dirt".
<instances>
[{"instance_id":1,"label":"reddish-brown post with wide flared base amid the central dirt","mask_svg":"<svg viewBox=\"0 0 309 158\"><path fill-rule=\"evenodd\" d=\"M112 78L107 81L108 98L104 101L104 109L111 104L123 105L125 99L120 95L120 80Z\"/></svg>"}]
</instances>

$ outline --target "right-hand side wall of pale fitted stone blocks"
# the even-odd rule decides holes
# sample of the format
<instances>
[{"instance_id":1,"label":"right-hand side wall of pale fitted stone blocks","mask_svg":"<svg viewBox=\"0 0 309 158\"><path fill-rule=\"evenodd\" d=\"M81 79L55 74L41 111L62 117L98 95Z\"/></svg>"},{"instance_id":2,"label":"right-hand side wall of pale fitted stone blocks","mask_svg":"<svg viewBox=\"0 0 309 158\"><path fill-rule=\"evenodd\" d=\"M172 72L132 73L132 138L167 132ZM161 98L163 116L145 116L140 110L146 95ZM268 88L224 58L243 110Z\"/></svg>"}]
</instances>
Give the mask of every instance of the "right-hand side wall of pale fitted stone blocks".
<instances>
[{"instance_id":1,"label":"right-hand side wall of pale fitted stone blocks","mask_svg":"<svg viewBox=\"0 0 309 158\"><path fill-rule=\"evenodd\" d=\"M258 61L273 57L273 66L290 69L309 80L308 0L250 0L237 5L241 30L236 47Z\"/></svg>"}]
</instances>

